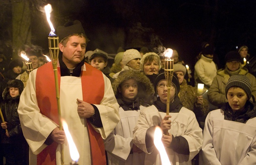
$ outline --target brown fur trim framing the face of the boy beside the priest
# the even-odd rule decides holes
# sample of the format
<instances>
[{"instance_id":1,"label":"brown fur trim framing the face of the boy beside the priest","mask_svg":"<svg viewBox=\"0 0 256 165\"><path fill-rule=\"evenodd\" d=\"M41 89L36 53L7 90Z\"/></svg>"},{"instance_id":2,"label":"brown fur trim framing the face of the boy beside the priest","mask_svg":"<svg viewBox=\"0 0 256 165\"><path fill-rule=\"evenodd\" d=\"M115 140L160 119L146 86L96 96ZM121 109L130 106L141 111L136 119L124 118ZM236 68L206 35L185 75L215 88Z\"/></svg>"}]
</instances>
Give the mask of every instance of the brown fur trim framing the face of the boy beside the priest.
<instances>
[{"instance_id":1,"label":"brown fur trim framing the face of the boy beside the priest","mask_svg":"<svg viewBox=\"0 0 256 165\"><path fill-rule=\"evenodd\" d=\"M154 95L154 87L145 74L134 70L128 70L122 71L118 78L116 78L112 83L112 88L117 98L120 97L120 93L118 92L119 85L121 85L121 83L125 80L129 80L131 78L138 83L139 100L145 101L145 99L148 99L149 96Z\"/></svg>"}]
</instances>

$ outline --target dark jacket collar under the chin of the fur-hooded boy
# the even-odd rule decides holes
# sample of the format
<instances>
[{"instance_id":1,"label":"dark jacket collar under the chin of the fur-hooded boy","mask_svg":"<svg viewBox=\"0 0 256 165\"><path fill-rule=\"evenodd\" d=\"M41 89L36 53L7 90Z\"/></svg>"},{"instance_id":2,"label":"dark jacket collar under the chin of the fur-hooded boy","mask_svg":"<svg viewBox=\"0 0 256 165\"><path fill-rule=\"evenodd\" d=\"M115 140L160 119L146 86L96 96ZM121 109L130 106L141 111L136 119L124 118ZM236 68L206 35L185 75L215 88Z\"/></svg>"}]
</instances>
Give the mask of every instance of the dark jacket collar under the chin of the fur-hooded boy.
<instances>
[{"instance_id":1,"label":"dark jacket collar under the chin of the fur-hooded boy","mask_svg":"<svg viewBox=\"0 0 256 165\"><path fill-rule=\"evenodd\" d=\"M139 98L136 98L134 101L118 98L117 102L122 107L122 109L124 109L124 111L139 110Z\"/></svg>"}]
</instances>

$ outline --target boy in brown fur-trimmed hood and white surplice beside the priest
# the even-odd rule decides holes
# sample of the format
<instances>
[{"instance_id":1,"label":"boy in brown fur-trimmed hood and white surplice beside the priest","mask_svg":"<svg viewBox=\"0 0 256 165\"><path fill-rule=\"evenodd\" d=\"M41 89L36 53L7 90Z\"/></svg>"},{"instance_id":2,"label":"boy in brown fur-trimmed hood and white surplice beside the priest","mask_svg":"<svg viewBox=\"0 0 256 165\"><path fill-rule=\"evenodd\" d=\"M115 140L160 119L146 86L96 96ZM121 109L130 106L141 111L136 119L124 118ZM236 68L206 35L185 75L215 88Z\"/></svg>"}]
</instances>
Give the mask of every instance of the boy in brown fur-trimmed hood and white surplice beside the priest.
<instances>
[{"instance_id":1,"label":"boy in brown fur-trimmed hood and white surplice beside the priest","mask_svg":"<svg viewBox=\"0 0 256 165\"><path fill-rule=\"evenodd\" d=\"M143 99L153 96L154 87L147 76L133 70L122 71L112 84L119 103L120 121L105 140L109 165L142 165L145 153L132 143L139 113L148 105Z\"/></svg>"}]
</instances>

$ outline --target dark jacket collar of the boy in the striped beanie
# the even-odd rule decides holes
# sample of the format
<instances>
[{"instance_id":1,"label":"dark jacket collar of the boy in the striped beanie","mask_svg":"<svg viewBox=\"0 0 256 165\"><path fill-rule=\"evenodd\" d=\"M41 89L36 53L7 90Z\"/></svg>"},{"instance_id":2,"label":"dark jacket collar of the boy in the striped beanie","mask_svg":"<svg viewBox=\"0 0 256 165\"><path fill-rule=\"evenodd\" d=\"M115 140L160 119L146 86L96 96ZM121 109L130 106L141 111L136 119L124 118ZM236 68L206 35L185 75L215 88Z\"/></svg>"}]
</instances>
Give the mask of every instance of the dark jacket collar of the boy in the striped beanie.
<instances>
[{"instance_id":1,"label":"dark jacket collar of the boy in the striped beanie","mask_svg":"<svg viewBox=\"0 0 256 165\"><path fill-rule=\"evenodd\" d=\"M250 101L245 103L243 111L233 112L228 103L225 103L221 109L224 111L224 120L246 123L250 118L256 117L256 106Z\"/></svg>"}]
</instances>

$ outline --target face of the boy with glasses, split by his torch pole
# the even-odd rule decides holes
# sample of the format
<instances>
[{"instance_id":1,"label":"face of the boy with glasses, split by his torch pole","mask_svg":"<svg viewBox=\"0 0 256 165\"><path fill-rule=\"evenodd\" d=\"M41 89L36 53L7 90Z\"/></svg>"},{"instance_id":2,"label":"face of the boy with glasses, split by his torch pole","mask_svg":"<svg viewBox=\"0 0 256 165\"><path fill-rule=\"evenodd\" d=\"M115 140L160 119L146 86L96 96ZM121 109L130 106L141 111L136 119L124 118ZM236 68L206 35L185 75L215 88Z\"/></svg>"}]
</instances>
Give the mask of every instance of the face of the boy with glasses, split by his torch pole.
<instances>
[{"instance_id":1,"label":"face of the boy with glasses, split by his torch pole","mask_svg":"<svg viewBox=\"0 0 256 165\"><path fill-rule=\"evenodd\" d=\"M158 96L160 97L161 102L166 104L167 103L167 82L166 82L166 80L161 80L158 83L156 90L157 90ZM170 88L170 102L174 99L175 91L176 90L172 83L172 86Z\"/></svg>"}]
</instances>

